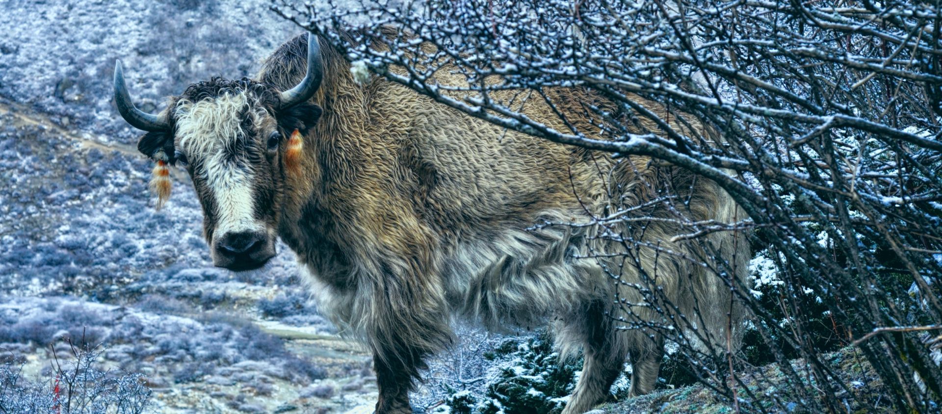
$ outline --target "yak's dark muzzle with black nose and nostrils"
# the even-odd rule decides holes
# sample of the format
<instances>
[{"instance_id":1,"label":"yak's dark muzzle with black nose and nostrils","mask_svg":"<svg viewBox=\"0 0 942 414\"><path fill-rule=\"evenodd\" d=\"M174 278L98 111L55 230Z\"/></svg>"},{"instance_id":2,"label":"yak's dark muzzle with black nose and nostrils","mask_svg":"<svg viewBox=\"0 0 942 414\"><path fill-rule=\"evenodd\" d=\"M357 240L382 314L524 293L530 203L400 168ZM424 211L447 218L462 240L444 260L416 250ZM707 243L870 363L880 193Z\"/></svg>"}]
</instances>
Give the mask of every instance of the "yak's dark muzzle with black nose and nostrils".
<instances>
[{"instance_id":1,"label":"yak's dark muzzle with black nose and nostrils","mask_svg":"<svg viewBox=\"0 0 942 414\"><path fill-rule=\"evenodd\" d=\"M213 249L213 264L235 271L257 269L275 256L274 241L262 231L225 233Z\"/></svg>"}]
</instances>

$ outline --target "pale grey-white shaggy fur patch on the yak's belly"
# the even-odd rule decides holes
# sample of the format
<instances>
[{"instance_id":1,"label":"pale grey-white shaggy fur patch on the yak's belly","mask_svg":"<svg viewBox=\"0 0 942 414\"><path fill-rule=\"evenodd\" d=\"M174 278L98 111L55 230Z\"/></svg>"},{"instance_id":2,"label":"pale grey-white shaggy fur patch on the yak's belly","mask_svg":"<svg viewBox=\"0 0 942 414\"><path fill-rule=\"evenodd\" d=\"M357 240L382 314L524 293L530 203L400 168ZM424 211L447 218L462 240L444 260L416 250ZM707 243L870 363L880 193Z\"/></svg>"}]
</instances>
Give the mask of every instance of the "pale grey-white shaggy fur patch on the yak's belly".
<instances>
[{"instance_id":1,"label":"pale grey-white shaggy fur patch on the yak's belly","mask_svg":"<svg viewBox=\"0 0 942 414\"><path fill-rule=\"evenodd\" d=\"M447 300L458 315L490 328L544 326L553 314L609 294L598 263L584 259L581 232L521 228L469 239L444 259Z\"/></svg>"}]
</instances>

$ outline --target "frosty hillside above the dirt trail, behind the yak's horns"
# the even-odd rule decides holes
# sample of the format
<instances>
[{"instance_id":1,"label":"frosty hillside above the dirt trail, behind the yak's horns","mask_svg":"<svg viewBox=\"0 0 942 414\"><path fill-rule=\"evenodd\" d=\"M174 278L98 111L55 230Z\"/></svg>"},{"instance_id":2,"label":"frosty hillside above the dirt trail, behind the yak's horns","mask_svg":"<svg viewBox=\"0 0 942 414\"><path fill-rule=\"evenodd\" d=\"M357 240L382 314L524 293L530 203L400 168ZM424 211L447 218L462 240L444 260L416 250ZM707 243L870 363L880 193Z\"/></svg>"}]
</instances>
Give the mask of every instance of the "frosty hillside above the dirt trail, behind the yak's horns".
<instances>
[{"instance_id":1,"label":"frosty hillside above the dirt trail, behind the yak's horns","mask_svg":"<svg viewBox=\"0 0 942 414\"><path fill-rule=\"evenodd\" d=\"M0 94L104 141L138 133L115 116L114 61L142 109L192 82L252 76L261 59L300 32L265 0L5 0Z\"/></svg>"}]
</instances>

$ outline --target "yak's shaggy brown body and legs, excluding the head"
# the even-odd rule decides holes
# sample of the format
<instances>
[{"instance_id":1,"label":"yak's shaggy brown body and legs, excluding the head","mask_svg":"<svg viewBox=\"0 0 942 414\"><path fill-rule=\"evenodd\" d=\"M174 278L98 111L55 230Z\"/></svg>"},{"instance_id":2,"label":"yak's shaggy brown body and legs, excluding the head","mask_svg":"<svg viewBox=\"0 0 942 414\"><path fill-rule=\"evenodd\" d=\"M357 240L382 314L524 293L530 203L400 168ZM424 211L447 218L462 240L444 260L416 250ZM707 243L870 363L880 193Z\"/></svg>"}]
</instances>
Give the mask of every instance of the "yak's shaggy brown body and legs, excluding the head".
<instances>
[{"instance_id":1,"label":"yak's shaggy brown body and legs, excluding the head","mask_svg":"<svg viewBox=\"0 0 942 414\"><path fill-rule=\"evenodd\" d=\"M304 37L285 43L259 80L276 88L297 84L305 72L305 44ZM586 355L565 413L602 401L626 356L634 365L632 395L652 390L663 340L647 329L619 330L610 318L622 317L623 325L665 320L651 307L633 305L643 298L632 284L659 287L678 312L696 315L690 319L707 332L707 341L725 343L734 335L726 332L740 320L730 288L702 264L728 266L744 283L749 255L739 235L709 237L726 258L717 264L701 245L671 241L683 231L675 220L648 221L643 228L622 223L527 230L545 221L587 223L589 214L644 206L665 191L689 200L680 204L692 220L741 219L715 183L678 167L655 167L645 157L616 160L507 131L380 78L362 86L350 76L349 62L326 43L321 50L324 81L311 102L324 112L304 137L301 173L287 183L280 235L310 271L322 309L342 332L374 351L377 412L411 412L407 391L423 358L453 340L451 314L498 328L538 326L555 317L564 353L581 349ZM445 67L437 73L441 84L466 86L452 74L460 72ZM583 104L604 106L604 99L577 88L544 93L579 130L597 130L598 120L585 115ZM493 98L567 130L542 97L520 95L526 92ZM658 104L637 101L674 119ZM674 217L657 202L628 215ZM624 283L606 272L618 268L618 260L577 259L626 252L600 241L603 231L642 242L629 255L640 266L624 267ZM614 307L616 295L627 305Z\"/></svg>"}]
</instances>

